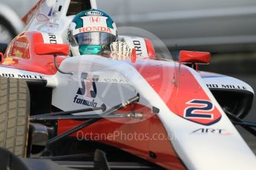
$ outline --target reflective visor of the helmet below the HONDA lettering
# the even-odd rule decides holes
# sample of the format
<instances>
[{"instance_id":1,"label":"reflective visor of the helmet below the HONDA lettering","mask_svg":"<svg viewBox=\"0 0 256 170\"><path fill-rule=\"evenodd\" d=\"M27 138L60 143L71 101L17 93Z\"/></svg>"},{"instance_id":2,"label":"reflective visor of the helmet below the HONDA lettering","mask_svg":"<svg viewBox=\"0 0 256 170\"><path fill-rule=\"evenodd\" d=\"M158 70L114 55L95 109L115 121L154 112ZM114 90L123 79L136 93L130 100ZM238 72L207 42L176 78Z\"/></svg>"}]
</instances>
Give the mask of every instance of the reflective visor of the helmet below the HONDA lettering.
<instances>
[{"instance_id":1,"label":"reflective visor of the helmet below the HONDA lettering","mask_svg":"<svg viewBox=\"0 0 256 170\"><path fill-rule=\"evenodd\" d=\"M77 44L80 45L108 45L116 41L116 36L110 33L89 32L74 35Z\"/></svg>"}]
</instances>

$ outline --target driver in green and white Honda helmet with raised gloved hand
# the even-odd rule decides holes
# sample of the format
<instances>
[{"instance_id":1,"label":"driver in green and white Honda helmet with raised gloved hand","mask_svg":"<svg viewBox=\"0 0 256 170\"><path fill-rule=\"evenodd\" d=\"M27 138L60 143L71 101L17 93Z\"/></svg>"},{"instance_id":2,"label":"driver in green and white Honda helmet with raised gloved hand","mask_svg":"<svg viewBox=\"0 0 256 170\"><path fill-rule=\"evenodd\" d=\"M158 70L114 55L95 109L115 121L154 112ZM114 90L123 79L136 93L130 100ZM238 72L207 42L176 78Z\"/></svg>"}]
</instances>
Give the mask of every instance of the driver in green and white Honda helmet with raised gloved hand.
<instances>
[{"instance_id":1,"label":"driver in green and white Honda helmet with raised gloved hand","mask_svg":"<svg viewBox=\"0 0 256 170\"><path fill-rule=\"evenodd\" d=\"M117 41L116 24L102 10L85 10L70 23L68 41L71 56L103 55L114 59L131 58L131 47Z\"/></svg>"}]
</instances>

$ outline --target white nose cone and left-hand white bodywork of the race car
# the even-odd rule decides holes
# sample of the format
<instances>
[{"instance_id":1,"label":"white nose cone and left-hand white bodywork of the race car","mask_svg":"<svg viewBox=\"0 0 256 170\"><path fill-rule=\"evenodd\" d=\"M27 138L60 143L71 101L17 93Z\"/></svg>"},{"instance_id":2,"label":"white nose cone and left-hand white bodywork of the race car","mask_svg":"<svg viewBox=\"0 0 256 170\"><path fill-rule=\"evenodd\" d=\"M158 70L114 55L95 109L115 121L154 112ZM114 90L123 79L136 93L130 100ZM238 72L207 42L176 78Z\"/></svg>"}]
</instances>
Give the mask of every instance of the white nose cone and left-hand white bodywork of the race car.
<instances>
[{"instance_id":1,"label":"white nose cone and left-hand white bodywork of the race car","mask_svg":"<svg viewBox=\"0 0 256 170\"><path fill-rule=\"evenodd\" d=\"M153 61L146 62L151 64ZM174 62L157 62L158 64L174 67ZM12 74L7 75L10 77L14 75L17 78L30 77L31 79L47 80L47 86L54 86L53 106L68 111L91 107L74 102L76 91L81 86L81 71L91 72L93 75L99 75L99 79L96 82L99 95L93 99L94 103L102 104L104 101L108 107L111 107L115 106L119 101L126 101L139 93L140 104L159 108L158 116L168 132L171 139L170 144L174 146L175 151L188 169L255 169L255 155L246 145L243 138L240 137L229 118L226 117L213 95L211 95L200 75L194 69L186 68L193 73L194 78L201 84L203 90L222 114L220 121L211 126L203 126L188 121L171 112L163 99L140 75L140 72L127 62L87 55L67 58L62 62L59 69L65 72L73 72L73 75L63 75L59 72L56 75L42 75L10 68L1 69L0 75L8 72ZM117 84L117 86L114 84ZM215 84L217 84L216 81ZM118 92L116 88L119 88L120 91ZM82 99L90 100L87 97Z\"/></svg>"}]
</instances>

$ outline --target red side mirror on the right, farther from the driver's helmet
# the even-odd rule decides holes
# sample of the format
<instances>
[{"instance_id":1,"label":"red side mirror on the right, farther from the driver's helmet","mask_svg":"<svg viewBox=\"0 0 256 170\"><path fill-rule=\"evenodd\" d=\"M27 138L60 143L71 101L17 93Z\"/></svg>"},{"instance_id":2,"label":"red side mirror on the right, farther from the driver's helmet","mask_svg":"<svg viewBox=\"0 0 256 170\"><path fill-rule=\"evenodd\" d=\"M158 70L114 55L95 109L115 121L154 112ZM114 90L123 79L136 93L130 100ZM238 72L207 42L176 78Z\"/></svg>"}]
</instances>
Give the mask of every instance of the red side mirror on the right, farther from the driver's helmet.
<instances>
[{"instance_id":1,"label":"red side mirror on the right, farther from the driver's helmet","mask_svg":"<svg viewBox=\"0 0 256 170\"><path fill-rule=\"evenodd\" d=\"M189 64L209 64L211 61L210 52L180 51L179 61Z\"/></svg>"}]
</instances>

